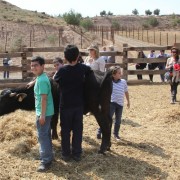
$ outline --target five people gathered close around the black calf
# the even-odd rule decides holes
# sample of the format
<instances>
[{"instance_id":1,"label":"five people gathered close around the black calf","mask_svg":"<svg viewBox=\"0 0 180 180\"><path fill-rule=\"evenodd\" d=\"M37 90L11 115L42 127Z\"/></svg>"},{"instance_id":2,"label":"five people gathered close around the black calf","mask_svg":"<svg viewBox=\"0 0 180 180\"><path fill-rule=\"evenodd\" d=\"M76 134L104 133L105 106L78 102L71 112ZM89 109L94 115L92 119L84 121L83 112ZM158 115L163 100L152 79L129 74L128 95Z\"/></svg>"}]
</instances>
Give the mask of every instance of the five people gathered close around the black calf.
<instances>
[{"instance_id":1,"label":"five people gathered close around the black calf","mask_svg":"<svg viewBox=\"0 0 180 180\"><path fill-rule=\"evenodd\" d=\"M79 61L79 49L75 45L68 45L64 49L64 58L67 64L63 65L62 59L58 58L53 61L56 68L53 78L59 84L60 93L61 147L64 161L69 161L71 158L75 161L81 160L84 78L92 73L92 70L105 71L105 60L102 56L99 56L99 48L96 45L91 45L88 50L90 57L84 63ZM51 166L54 158L50 133L50 122L54 114L54 106L51 85L47 74L44 72L44 67L44 58L40 56L32 58L31 70L36 75L36 79L27 85L27 87L30 87L35 84L36 126L41 160L37 169L38 172L46 171ZM111 72L113 90L110 116L113 117L115 114L114 136L116 140L119 140L124 96L127 99L128 107L130 107L130 101L127 82L121 79L121 68L112 66Z\"/></svg>"}]
</instances>

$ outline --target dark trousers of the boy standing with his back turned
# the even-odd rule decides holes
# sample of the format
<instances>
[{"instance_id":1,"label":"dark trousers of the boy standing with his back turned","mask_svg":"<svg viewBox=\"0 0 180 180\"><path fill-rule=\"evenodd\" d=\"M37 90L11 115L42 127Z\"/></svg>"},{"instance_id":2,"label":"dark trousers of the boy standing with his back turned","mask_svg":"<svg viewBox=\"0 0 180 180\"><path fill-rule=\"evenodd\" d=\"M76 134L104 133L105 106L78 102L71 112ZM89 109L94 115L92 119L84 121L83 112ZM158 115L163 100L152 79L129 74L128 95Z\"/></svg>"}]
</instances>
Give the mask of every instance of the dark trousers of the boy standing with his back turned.
<instances>
[{"instance_id":1,"label":"dark trousers of the boy standing with his back turned","mask_svg":"<svg viewBox=\"0 0 180 180\"><path fill-rule=\"evenodd\" d=\"M60 108L62 155L80 156L82 153L83 107ZM72 131L72 150L71 144Z\"/></svg>"}]
</instances>

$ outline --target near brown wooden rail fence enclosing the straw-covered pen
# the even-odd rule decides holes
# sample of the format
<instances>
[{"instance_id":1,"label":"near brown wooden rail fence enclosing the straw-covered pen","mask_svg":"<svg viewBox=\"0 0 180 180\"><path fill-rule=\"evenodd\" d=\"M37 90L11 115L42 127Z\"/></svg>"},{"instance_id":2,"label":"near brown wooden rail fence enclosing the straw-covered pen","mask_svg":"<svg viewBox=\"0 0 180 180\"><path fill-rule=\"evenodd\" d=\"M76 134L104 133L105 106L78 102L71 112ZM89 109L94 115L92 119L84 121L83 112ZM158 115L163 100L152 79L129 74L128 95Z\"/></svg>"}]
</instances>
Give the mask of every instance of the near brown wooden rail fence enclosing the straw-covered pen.
<instances>
[{"instance_id":1,"label":"near brown wooden rail fence enclosing the straw-covered pen","mask_svg":"<svg viewBox=\"0 0 180 180\"><path fill-rule=\"evenodd\" d=\"M153 58L153 59L148 59L148 58L129 58L128 53L130 51L150 51L152 49L154 50L170 50L172 46L161 46L161 47L154 47L154 46L149 46L149 47L128 47L128 44L123 44L123 51L106 51L106 52L100 52L101 56L121 56L122 57L122 63L111 63L111 64L106 64L106 68L109 68L112 65L119 65L123 69L123 78L125 78L128 83L142 83L143 81L138 81L134 80L133 82L128 80L128 76L130 75L137 75L137 74L164 74L165 70L129 70L128 69L128 64L129 63L161 63L161 62L166 62L166 58ZM21 79L1 79L0 80L0 89L3 88L10 88L10 87L16 87L19 84L27 83L31 80L31 77L29 76L30 72L30 59L29 57L33 56L34 52L63 52L64 47L46 47L46 48L25 48L23 52L17 52L17 53L10 53L9 56L11 58L21 58L21 63L20 65L17 66L9 66L9 67L4 67L0 66L0 71L4 70L9 70L10 72L21 72L22 73L22 78ZM88 52L86 50L80 50L82 56L87 56ZM2 53L0 54L0 59L6 57L7 54ZM46 59L46 58L45 58ZM46 64L51 64L52 65L52 60L53 59L46 59ZM49 67L46 69L48 70L53 70L52 67Z\"/></svg>"}]
</instances>

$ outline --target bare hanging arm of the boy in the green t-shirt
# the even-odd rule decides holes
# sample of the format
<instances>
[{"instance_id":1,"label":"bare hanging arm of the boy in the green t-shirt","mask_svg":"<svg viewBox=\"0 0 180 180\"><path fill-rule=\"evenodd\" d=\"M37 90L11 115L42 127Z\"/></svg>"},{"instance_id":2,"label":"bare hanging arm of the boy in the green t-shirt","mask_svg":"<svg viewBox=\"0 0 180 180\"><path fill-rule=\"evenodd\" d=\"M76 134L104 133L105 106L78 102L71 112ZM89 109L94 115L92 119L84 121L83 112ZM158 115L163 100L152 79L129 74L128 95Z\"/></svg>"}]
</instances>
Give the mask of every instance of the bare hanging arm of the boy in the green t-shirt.
<instances>
[{"instance_id":1,"label":"bare hanging arm of the boy in the green t-shirt","mask_svg":"<svg viewBox=\"0 0 180 180\"><path fill-rule=\"evenodd\" d=\"M41 116L39 118L39 123L41 125L45 124L46 104L47 104L47 94L41 94Z\"/></svg>"}]
</instances>

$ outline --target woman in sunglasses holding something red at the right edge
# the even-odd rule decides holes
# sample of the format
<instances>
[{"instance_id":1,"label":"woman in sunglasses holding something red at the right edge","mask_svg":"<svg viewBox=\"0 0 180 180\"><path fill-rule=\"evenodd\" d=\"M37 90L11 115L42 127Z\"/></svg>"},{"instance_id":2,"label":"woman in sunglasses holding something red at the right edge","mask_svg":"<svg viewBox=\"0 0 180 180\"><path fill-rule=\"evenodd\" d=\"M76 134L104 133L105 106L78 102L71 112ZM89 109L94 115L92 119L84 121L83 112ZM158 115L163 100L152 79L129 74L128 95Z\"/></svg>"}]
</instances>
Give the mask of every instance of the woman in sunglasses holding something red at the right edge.
<instances>
[{"instance_id":1,"label":"woman in sunglasses holding something red at the right edge","mask_svg":"<svg viewBox=\"0 0 180 180\"><path fill-rule=\"evenodd\" d=\"M176 47L171 48L171 57L167 59L166 69L169 71L171 104L174 104L177 101L177 87L180 81L180 58Z\"/></svg>"}]
</instances>

